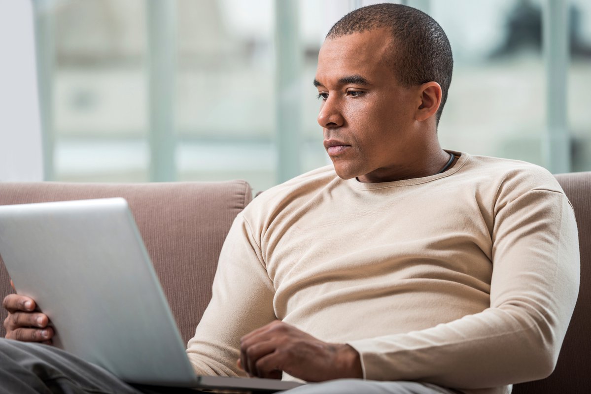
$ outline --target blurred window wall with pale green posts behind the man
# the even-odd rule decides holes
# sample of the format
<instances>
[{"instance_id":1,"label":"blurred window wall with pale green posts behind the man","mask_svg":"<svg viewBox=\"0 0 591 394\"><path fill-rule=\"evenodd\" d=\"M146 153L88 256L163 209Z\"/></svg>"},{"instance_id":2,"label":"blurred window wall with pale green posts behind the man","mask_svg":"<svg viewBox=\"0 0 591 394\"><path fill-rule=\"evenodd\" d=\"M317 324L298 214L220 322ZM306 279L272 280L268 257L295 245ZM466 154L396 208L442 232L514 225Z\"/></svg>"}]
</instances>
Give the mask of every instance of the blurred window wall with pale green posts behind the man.
<instances>
[{"instance_id":1,"label":"blurred window wall with pale green posts behind the man","mask_svg":"<svg viewBox=\"0 0 591 394\"><path fill-rule=\"evenodd\" d=\"M452 44L443 148L591 170L591 2L394 2ZM332 24L374 3L32 0L43 178L265 190L329 164L317 54Z\"/></svg>"}]
</instances>

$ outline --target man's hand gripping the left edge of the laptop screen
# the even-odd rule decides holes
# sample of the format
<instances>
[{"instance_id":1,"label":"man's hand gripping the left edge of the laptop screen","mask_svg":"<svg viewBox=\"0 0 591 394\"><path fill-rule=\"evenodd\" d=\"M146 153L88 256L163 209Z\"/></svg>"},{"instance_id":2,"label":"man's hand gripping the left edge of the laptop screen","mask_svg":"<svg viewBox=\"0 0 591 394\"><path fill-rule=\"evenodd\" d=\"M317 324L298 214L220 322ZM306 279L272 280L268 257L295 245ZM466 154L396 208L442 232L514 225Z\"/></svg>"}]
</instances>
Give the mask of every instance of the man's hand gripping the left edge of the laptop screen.
<instances>
[{"instance_id":1,"label":"man's hand gripping the left edge of the laptop screen","mask_svg":"<svg viewBox=\"0 0 591 394\"><path fill-rule=\"evenodd\" d=\"M8 311L8 317L4 320L8 339L51 344L53 329L47 327L49 318L46 314L35 311L33 299L9 294L2 301L2 306Z\"/></svg>"}]
</instances>

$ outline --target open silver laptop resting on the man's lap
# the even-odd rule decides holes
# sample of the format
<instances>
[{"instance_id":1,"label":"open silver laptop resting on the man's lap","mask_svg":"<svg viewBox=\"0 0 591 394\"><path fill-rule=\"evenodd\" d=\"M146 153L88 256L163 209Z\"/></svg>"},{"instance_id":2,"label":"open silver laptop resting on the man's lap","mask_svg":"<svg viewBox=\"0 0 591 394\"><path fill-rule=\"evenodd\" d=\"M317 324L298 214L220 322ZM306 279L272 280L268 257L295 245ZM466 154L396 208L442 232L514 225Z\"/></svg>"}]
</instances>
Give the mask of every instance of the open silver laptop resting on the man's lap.
<instances>
[{"instance_id":1,"label":"open silver laptop resting on the man's lap","mask_svg":"<svg viewBox=\"0 0 591 394\"><path fill-rule=\"evenodd\" d=\"M197 376L124 198L0 206L0 255L54 346L128 383L263 393L300 383Z\"/></svg>"}]
</instances>

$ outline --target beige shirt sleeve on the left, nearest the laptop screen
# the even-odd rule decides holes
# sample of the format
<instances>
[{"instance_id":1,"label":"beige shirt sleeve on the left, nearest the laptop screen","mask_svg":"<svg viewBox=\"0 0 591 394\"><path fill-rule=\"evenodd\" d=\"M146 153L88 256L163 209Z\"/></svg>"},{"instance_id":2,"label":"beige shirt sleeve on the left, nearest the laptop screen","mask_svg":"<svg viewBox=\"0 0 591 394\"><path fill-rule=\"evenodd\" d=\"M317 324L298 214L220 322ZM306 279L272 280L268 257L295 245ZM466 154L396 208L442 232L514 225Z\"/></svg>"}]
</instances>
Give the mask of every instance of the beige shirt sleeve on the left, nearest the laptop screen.
<instances>
[{"instance_id":1,"label":"beige shirt sleeve on the left, nearest the laptop screen","mask_svg":"<svg viewBox=\"0 0 591 394\"><path fill-rule=\"evenodd\" d=\"M236 362L240 338L275 320L274 287L242 213L226 237L207 306L187 355L198 375L245 376Z\"/></svg>"}]
</instances>

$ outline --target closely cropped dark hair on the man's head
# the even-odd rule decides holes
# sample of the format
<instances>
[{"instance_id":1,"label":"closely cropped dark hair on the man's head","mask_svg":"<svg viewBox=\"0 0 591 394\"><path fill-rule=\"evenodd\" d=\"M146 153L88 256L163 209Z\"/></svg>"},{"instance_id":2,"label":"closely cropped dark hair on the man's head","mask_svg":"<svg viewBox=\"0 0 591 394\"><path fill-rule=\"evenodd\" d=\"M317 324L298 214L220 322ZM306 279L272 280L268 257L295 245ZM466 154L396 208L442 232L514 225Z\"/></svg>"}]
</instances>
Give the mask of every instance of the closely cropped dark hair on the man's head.
<instances>
[{"instance_id":1,"label":"closely cropped dark hair on the man's head","mask_svg":"<svg viewBox=\"0 0 591 394\"><path fill-rule=\"evenodd\" d=\"M441 111L452 83L452 47L441 26L418 9L402 4L375 4L349 12L330 28L328 40L358 32L386 28L392 34L392 50L385 61L398 82L406 86L437 82L441 86Z\"/></svg>"}]
</instances>

